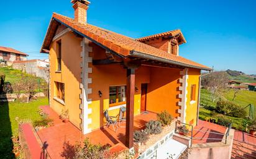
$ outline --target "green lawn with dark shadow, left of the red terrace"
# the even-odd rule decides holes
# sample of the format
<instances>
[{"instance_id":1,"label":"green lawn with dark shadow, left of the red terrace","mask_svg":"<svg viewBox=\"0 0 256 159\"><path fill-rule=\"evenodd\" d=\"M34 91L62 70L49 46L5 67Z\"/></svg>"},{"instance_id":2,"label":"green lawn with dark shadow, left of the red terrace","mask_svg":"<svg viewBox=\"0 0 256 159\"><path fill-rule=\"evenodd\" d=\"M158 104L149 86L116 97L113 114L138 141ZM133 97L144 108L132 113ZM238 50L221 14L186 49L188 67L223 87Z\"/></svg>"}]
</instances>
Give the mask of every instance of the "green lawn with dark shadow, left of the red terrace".
<instances>
[{"instance_id":1,"label":"green lawn with dark shadow, left of the red terrace","mask_svg":"<svg viewBox=\"0 0 256 159\"><path fill-rule=\"evenodd\" d=\"M40 105L48 105L48 98L40 98L30 103L20 103L19 101L3 103L0 105L0 158L14 158L12 154L12 135L18 131L16 118L30 119L35 121L40 119L38 113Z\"/></svg>"}]
</instances>

